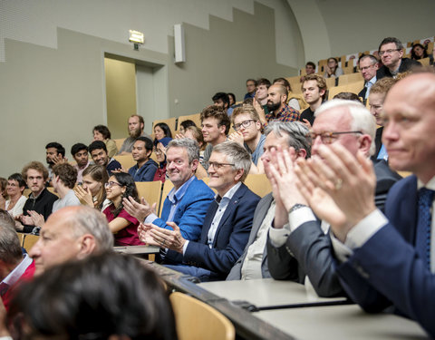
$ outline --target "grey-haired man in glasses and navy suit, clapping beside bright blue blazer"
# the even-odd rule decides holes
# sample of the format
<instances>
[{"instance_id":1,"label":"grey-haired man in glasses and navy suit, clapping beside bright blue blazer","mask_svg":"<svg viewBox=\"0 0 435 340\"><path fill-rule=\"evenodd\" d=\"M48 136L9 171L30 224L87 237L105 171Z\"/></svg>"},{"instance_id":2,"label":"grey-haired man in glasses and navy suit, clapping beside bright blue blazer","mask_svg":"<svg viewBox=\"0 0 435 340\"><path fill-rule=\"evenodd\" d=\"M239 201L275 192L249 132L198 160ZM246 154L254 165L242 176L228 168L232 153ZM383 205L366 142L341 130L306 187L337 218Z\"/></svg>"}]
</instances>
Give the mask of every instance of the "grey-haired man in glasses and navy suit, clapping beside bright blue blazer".
<instances>
[{"instance_id":1,"label":"grey-haired man in glasses and navy suit, clapping beside bright blue blazer","mask_svg":"<svg viewBox=\"0 0 435 340\"><path fill-rule=\"evenodd\" d=\"M165 259L167 267L201 281L227 277L247 245L260 200L243 184L250 165L251 156L240 144L225 141L215 146L208 160L208 185L218 194L208 207L198 241L183 238L175 223L168 223L173 230L145 224L140 239L179 253L182 264Z\"/></svg>"}]
</instances>

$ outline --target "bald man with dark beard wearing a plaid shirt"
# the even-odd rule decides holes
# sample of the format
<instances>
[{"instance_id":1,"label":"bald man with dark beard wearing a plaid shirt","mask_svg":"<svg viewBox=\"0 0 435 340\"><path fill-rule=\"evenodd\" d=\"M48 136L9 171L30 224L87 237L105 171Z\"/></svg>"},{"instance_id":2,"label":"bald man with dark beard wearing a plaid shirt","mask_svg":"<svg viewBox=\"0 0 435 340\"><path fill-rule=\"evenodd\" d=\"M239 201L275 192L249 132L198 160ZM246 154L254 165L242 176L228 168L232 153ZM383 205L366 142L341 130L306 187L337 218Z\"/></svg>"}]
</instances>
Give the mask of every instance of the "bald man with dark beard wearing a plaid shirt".
<instances>
[{"instance_id":1,"label":"bald man with dark beard wearing a plaid shirt","mask_svg":"<svg viewBox=\"0 0 435 340\"><path fill-rule=\"evenodd\" d=\"M287 90L281 84L274 84L269 87L267 91L267 110L269 113L266 115L264 112L259 112L260 120L264 125L269 121L298 121L299 112L292 109L286 104Z\"/></svg>"}]
</instances>

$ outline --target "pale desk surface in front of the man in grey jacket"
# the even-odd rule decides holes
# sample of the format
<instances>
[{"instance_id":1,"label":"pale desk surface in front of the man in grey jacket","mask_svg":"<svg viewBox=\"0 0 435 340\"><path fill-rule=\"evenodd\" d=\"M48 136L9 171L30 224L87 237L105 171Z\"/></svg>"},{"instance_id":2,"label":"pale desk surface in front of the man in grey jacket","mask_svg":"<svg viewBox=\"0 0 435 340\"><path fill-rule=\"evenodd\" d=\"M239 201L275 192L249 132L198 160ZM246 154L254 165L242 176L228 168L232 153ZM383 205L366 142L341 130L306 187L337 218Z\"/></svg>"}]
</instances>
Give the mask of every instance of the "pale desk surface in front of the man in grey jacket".
<instances>
[{"instance_id":1,"label":"pale desk surface in front of the man in grey jacket","mask_svg":"<svg viewBox=\"0 0 435 340\"><path fill-rule=\"evenodd\" d=\"M319 297L314 291L307 291L304 285L291 281L276 281L273 278L203 282L198 286L229 301L245 300L258 308L335 305L346 301L344 297Z\"/></svg>"}]
</instances>

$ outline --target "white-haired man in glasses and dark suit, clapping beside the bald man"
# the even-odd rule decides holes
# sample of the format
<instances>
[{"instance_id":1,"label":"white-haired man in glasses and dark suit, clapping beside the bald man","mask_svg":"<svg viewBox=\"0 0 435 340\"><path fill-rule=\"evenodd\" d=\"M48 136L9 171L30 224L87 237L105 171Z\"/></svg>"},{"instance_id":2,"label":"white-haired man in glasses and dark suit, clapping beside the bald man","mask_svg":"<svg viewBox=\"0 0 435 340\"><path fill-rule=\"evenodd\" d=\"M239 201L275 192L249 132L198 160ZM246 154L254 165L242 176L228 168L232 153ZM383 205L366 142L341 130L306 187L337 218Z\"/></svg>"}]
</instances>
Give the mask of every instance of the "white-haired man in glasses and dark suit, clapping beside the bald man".
<instances>
[{"instance_id":1,"label":"white-haired man in glasses and dark suit, clapping beside the bald man","mask_svg":"<svg viewBox=\"0 0 435 340\"><path fill-rule=\"evenodd\" d=\"M312 153L319 156L324 144L341 144L353 155L361 152L369 158L374 151L375 122L368 110L359 102L333 100L316 111L312 131ZM283 164L281 162L281 164ZM269 230L267 254L269 270L276 279L292 279L313 285L319 296L344 295L333 266L328 225L314 216L316 207L308 207L295 185L293 161L280 169L286 177L273 175L278 185L273 186L275 197L282 201L275 209L274 228ZM382 161L375 165L377 176L376 205L383 209L388 190L400 176ZM273 180L274 181L274 180ZM279 189L278 189L279 188ZM277 205L278 207L278 205Z\"/></svg>"}]
</instances>

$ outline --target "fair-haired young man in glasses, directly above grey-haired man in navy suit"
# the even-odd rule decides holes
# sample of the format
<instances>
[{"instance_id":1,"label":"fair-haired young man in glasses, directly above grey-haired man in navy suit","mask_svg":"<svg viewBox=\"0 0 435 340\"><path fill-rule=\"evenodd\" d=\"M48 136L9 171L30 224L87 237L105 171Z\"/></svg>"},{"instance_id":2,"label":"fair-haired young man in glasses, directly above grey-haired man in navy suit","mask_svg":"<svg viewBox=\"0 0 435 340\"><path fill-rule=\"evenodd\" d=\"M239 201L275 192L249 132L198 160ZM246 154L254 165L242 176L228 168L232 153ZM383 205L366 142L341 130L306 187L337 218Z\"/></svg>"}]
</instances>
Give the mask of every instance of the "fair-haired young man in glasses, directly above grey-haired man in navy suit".
<instances>
[{"instance_id":1,"label":"fair-haired young man in glasses, directly above grey-haired man in navy suit","mask_svg":"<svg viewBox=\"0 0 435 340\"><path fill-rule=\"evenodd\" d=\"M234 110L231 121L236 132L228 136L228 141L236 141L251 154L251 173L257 173L258 160L263 154L266 137L262 133L263 125L256 109L252 105L243 105Z\"/></svg>"}]
</instances>

